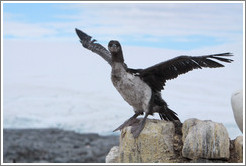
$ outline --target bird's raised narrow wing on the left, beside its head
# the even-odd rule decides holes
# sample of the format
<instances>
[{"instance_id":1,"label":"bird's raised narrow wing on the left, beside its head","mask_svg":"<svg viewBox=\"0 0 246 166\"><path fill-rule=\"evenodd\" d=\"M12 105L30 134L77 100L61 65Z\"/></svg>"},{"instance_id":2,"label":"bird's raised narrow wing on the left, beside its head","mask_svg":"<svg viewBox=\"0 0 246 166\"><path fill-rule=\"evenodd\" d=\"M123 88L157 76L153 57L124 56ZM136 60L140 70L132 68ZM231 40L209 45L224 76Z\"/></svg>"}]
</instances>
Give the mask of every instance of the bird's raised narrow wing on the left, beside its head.
<instances>
[{"instance_id":1,"label":"bird's raised narrow wing on the left, beside its head","mask_svg":"<svg viewBox=\"0 0 246 166\"><path fill-rule=\"evenodd\" d=\"M103 47L99 43L95 43L96 42L95 39L91 40L92 37L87 35L86 33L82 32L81 30L75 28L75 31L76 31L77 35L79 36L80 42L83 45L83 47L85 47L86 49L91 50L92 52L100 55L110 65L112 64L111 54L105 47Z\"/></svg>"}]
</instances>

